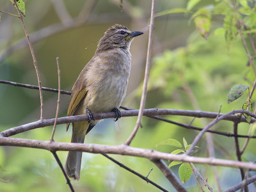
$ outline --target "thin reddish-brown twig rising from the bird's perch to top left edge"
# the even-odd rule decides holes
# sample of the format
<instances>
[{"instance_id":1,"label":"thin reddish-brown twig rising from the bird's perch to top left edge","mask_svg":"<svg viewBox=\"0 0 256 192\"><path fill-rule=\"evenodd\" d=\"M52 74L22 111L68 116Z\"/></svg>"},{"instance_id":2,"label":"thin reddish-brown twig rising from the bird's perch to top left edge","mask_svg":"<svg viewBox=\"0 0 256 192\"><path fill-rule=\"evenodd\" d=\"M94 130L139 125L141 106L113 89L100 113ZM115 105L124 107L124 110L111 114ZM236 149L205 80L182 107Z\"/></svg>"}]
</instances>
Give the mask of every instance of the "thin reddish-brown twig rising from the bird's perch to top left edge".
<instances>
[{"instance_id":1,"label":"thin reddish-brown twig rising from the bird's perch to top left edge","mask_svg":"<svg viewBox=\"0 0 256 192\"><path fill-rule=\"evenodd\" d=\"M40 115L40 119L42 120L43 119L43 106L44 106L44 102L43 102L42 85L41 85L40 74L39 74L39 71L38 71L37 61L36 61L36 57L35 57L35 53L34 53L33 47L32 47L31 42L29 40L28 31L26 29L26 26L25 26L24 21L23 21L23 17L22 17L22 15L20 13L20 10L19 10L19 7L18 7L16 1L13 1L13 3L15 4L15 8L17 9L17 12L19 13L19 18L20 18L20 21L22 23L22 27L24 29L24 32L26 34L26 38L28 40L29 49L31 51L34 67L35 67L35 70L36 70L36 77L37 77L37 81L38 81L39 93L40 93L40 102L41 102L41 107L40 107L41 108L41 115Z\"/></svg>"}]
</instances>

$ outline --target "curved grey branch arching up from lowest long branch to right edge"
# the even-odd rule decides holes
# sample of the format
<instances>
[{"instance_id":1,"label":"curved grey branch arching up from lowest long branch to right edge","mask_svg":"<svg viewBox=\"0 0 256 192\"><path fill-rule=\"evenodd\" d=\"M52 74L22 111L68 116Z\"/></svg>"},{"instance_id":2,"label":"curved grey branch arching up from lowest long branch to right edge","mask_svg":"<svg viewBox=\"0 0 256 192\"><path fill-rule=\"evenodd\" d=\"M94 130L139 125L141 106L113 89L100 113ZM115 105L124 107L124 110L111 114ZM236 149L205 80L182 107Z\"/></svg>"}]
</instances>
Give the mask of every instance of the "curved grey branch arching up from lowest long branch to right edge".
<instances>
[{"instance_id":1,"label":"curved grey branch arching up from lowest long branch to right edge","mask_svg":"<svg viewBox=\"0 0 256 192\"><path fill-rule=\"evenodd\" d=\"M240 111L240 112L238 112ZM193 143L191 144L191 147L189 148L189 150L186 152L186 154L191 154L192 150L195 148L196 143L198 143L198 141L202 138L202 136L204 135L204 133L210 129L214 124L217 124L220 120L223 120L224 118L226 118L227 116L230 115L234 115L236 113L245 113L247 115L250 114L250 116L253 116L255 118L255 114L251 113L247 110L243 110L243 109L239 109L239 110L235 110L235 111L231 111L229 113L226 113L225 115L221 115L218 118L214 119L210 124L208 124L198 135L196 135L195 140L193 141Z\"/></svg>"}]
</instances>

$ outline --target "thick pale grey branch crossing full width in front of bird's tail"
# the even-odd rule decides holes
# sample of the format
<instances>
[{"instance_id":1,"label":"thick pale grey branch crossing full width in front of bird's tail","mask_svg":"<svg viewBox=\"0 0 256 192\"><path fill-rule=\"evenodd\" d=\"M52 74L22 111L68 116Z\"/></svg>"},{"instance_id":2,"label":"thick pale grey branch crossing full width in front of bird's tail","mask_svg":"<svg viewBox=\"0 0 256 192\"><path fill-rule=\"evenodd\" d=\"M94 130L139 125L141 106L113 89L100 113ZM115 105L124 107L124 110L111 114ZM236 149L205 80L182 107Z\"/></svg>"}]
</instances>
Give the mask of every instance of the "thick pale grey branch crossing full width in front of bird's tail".
<instances>
[{"instance_id":1,"label":"thick pale grey branch crossing full width in front of bird's tail","mask_svg":"<svg viewBox=\"0 0 256 192\"><path fill-rule=\"evenodd\" d=\"M4 138L0 137L0 145L42 148L49 151L65 150L65 151L82 151L93 154L120 154L126 156L145 157L148 159L164 159L170 161L182 161L188 163L212 164L218 166L228 166L233 168L246 168L256 170L256 164L251 162L230 161L226 159L191 157L186 154L176 155L157 150L144 148L129 147L128 145L98 145L98 144L83 144L83 143L61 143L49 142L40 140L28 140L20 138Z\"/></svg>"}]
</instances>

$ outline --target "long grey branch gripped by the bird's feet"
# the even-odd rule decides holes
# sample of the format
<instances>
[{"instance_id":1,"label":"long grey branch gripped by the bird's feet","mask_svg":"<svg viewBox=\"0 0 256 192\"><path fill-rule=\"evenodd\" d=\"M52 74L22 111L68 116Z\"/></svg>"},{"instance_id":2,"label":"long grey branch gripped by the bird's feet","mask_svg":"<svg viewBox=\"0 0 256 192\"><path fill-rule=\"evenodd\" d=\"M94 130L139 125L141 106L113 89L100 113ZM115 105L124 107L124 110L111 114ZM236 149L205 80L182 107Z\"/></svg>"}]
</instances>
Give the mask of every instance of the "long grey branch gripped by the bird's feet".
<instances>
[{"instance_id":1,"label":"long grey branch gripped by the bird's feet","mask_svg":"<svg viewBox=\"0 0 256 192\"><path fill-rule=\"evenodd\" d=\"M137 116L138 110L129 110L129 111L120 111L122 116ZM220 117L218 120L232 120L236 122L236 120L239 120L237 118L236 113L245 113L250 116L256 117L255 114L250 113L249 111L239 109L236 111L232 111L230 113L226 114L220 114ZM233 114L233 115L230 115ZM181 109L144 109L143 115L147 116L156 116L156 115L180 115L180 116L196 116L198 118L207 117L207 118L216 118L218 113L211 113L211 112L205 112L205 111L189 111L189 110L181 110ZM225 116L224 116L225 115ZM108 113L94 113L93 114L95 120L101 120L104 118L115 118L115 113L108 112ZM222 118L223 117L223 118ZM54 118L51 119L43 119L38 120L36 122L31 122L29 124L20 125L17 127L13 127L10 129L7 129L5 131L0 132L0 136L8 137L15 134L19 134L20 132L29 131L31 129L36 129L40 127L47 127L50 125L54 125ZM82 122L88 120L88 115L76 115L76 116L65 116L57 118L56 124L67 124L72 122ZM246 122L245 118L244 121ZM203 129L202 131L207 131L206 129ZM201 133L201 132L200 132ZM244 136L245 137L245 136Z\"/></svg>"}]
</instances>

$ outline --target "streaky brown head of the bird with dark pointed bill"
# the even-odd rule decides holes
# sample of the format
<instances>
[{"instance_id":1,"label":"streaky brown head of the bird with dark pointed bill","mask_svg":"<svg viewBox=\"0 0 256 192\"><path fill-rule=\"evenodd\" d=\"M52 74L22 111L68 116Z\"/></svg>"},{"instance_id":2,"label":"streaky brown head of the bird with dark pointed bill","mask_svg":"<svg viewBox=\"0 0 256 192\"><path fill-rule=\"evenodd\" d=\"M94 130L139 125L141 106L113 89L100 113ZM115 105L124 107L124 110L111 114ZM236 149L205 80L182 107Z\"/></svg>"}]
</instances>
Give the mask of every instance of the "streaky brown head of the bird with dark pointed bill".
<instances>
[{"instance_id":1,"label":"streaky brown head of the bird with dark pointed bill","mask_svg":"<svg viewBox=\"0 0 256 192\"><path fill-rule=\"evenodd\" d=\"M96 52L115 48L129 49L133 38L142 34L141 31L131 32L125 26L115 24L100 38Z\"/></svg>"}]
</instances>

